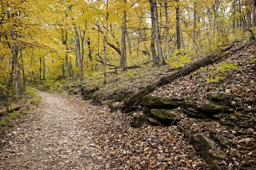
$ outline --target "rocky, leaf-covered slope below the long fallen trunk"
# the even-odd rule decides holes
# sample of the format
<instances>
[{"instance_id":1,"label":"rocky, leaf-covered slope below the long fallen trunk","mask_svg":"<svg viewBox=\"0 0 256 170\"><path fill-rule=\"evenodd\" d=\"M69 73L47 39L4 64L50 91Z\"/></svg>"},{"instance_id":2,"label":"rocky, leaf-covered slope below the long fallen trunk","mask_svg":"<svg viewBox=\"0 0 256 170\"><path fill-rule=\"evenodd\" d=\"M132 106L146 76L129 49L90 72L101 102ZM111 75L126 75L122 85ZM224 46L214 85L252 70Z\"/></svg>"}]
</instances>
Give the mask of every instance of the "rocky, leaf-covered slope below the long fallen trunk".
<instances>
[{"instance_id":1,"label":"rocky, leaf-covered slope below the long fallen trunk","mask_svg":"<svg viewBox=\"0 0 256 170\"><path fill-rule=\"evenodd\" d=\"M145 96L134 125L177 124L210 167L256 168L255 49L254 43Z\"/></svg>"}]
</instances>

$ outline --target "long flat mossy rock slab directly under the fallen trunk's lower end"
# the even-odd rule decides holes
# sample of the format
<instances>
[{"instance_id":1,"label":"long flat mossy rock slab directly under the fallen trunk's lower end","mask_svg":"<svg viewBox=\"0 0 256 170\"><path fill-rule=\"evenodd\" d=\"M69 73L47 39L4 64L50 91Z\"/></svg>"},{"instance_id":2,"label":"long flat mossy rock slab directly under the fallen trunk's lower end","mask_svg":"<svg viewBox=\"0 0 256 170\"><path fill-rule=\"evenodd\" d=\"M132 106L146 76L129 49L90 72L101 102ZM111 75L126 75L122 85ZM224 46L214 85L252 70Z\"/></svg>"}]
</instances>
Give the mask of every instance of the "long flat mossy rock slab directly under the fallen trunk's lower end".
<instances>
[{"instance_id":1,"label":"long flat mossy rock slab directly under the fallen trunk's lower end","mask_svg":"<svg viewBox=\"0 0 256 170\"><path fill-rule=\"evenodd\" d=\"M150 108L178 108L184 105L183 99L171 97L144 96L141 104Z\"/></svg>"}]
</instances>

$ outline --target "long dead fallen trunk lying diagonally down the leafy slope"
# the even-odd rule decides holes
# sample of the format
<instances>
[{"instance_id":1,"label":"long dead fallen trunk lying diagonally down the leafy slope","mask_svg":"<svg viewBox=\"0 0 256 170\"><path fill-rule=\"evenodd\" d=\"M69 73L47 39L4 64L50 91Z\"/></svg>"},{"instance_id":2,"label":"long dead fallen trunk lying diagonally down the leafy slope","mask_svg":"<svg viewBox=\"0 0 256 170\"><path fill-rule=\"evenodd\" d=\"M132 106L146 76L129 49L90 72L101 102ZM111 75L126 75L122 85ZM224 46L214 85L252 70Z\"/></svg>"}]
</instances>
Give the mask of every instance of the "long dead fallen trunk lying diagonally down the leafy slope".
<instances>
[{"instance_id":1,"label":"long dead fallen trunk lying diagonally down the leafy slope","mask_svg":"<svg viewBox=\"0 0 256 170\"><path fill-rule=\"evenodd\" d=\"M197 70L198 68L201 68L201 67L207 66L207 65L209 65L213 62L216 62L218 59L226 57L229 54L233 54L234 52L239 51L242 48L245 48L248 45L251 45L255 42L256 41L254 40L252 42L249 42L249 43L244 44L244 45L242 45L238 48L234 48L234 49L231 50L231 48L234 46L234 43L235 43L235 42L233 42L227 48L221 49L220 51L217 51L214 54L209 54L206 57L198 60L197 62L194 62L194 63L192 63L192 64L190 64L186 67L183 67L183 68L179 69L178 71L176 71L173 74L170 74L166 77L162 77L157 82L146 86L145 88L141 89L137 93L134 93L130 98L125 99L121 110L125 111L125 109L127 109L129 107L137 105L140 102L140 100L143 98L143 96L146 96L146 95L152 93L157 87L160 87L160 86L166 85L168 83L171 83L175 79L186 76L186 75L192 73L193 71Z\"/></svg>"}]
</instances>

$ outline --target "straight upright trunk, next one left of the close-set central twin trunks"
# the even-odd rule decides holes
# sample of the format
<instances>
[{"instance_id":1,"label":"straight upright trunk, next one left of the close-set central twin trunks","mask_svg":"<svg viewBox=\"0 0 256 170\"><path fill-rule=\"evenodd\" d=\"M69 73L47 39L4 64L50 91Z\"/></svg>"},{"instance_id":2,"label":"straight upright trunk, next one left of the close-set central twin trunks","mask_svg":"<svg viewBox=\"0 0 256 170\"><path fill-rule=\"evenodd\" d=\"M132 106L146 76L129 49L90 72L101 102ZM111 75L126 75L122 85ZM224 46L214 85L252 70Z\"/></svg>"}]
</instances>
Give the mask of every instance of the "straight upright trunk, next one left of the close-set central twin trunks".
<instances>
[{"instance_id":1,"label":"straight upright trunk, next one left of the close-set central twin trunks","mask_svg":"<svg viewBox=\"0 0 256 170\"><path fill-rule=\"evenodd\" d=\"M125 0L126 2L126 0ZM124 11L123 23L122 23L122 36L121 36L121 55L120 55L120 67L125 67L125 33L126 33L126 11Z\"/></svg>"}]
</instances>

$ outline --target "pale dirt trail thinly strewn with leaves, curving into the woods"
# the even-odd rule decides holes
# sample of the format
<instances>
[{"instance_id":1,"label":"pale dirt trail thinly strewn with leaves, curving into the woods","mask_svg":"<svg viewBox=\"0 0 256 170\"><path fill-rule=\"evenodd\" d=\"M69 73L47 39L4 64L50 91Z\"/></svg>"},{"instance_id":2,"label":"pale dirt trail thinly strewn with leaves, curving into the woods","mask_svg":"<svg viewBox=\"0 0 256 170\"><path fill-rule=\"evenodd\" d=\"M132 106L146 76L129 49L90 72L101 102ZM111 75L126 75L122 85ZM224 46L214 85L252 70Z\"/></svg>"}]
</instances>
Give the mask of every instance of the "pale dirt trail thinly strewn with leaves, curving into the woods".
<instances>
[{"instance_id":1,"label":"pale dirt trail thinly strewn with leaves, curving into the woods","mask_svg":"<svg viewBox=\"0 0 256 170\"><path fill-rule=\"evenodd\" d=\"M65 99L39 93L42 103L34 113L0 134L0 170L101 169L90 158L99 154L79 125L79 113Z\"/></svg>"}]
</instances>

